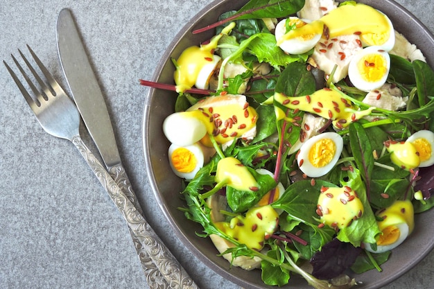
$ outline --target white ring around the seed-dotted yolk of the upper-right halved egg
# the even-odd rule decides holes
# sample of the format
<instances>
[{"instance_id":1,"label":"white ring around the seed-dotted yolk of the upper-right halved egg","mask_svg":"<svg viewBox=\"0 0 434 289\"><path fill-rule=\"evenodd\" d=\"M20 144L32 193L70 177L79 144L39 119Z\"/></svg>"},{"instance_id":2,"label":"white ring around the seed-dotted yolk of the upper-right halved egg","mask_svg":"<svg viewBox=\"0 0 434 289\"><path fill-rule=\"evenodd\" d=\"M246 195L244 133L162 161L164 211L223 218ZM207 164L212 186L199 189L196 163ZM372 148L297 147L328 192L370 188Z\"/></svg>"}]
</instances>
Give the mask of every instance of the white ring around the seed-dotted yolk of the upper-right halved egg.
<instances>
[{"instance_id":1,"label":"white ring around the seed-dotted yolk of the upper-right halved egg","mask_svg":"<svg viewBox=\"0 0 434 289\"><path fill-rule=\"evenodd\" d=\"M385 60L385 73L379 78L379 80L371 81L371 80L364 80L361 76L361 71L358 69L359 62L363 61L363 58L367 57L367 55L380 55ZM365 64L361 64L365 65ZM374 89L378 89L382 87L386 80L388 79L390 71L390 56L387 52L385 52L381 47L379 46L369 46L363 49L362 51L359 51L356 55L354 55L353 59L351 59L351 62L349 62L348 67L348 76L351 83L357 87L358 89L362 91L372 91Z\"/></svg>"}]
</instances>

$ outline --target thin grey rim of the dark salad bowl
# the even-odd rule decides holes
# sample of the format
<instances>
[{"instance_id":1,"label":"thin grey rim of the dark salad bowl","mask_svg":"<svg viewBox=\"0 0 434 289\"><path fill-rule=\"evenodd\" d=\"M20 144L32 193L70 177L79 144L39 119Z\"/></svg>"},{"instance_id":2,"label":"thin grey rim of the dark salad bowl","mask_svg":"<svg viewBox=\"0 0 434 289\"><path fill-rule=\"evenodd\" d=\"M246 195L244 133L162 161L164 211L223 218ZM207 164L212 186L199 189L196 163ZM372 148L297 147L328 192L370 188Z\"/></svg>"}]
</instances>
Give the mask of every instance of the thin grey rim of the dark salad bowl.
<instances>
[{"instance_id":1,"label":"thin grey rim of the dark salad bowl","mask_svg":"<svg viewBox=\"0 0 434 289\"><path fill-rule=\"evenodd\" d=\"M229 1L231 1L231 0L223 0L223 1L222 0L214 0L211 3L209 3L207 6L202 8L202 10L200 10L195 16L193 16L189 21L186 22L186 24L179 30L179 32L175 35L175 37L173 37L173 40L168 45L168 49L166 49L166 51L164 51L162 58L157 63L157 69L155 69L153 76L152 76L153 81L158 80L160 74L162 73L164 65L166 64L168 59L173 54L173 51L174 51L176 45L180 42L182 37L184 37L186 34L191 32L193 26L198 22L197 19L202 19L202 15L205 15L207 12L209 12L209 10L214 10L214 9L218 8L219 6L222 6ZM242 3L246 3L246 2L247 2L247 0L242 1ZM338 2L340 2L340 0L338 0ZM374 3L375 1L373 1L373 0L360 0L358 2ZM408 19L410 19L410 21L412 22L411 25L416 26L417 30L422 31L422 34L424 34L423 39L430 42L432 44L432 46L434 46L434 35L433 35L433 33L431 33L430 30L428 30L428 28L422 23L422 21L417 19L411 12L409 12L406 8L401 6L401 4L399 4L393 0L383 0L382 2L387 3L390 6L393 6L394 11L399 12L401 15L404 15ZM374 5L372 5L372 6L374 6ZM240 5L240 7L241 7L241 5ZM408 37L408 35L405 35L405 36ZM411 37L408 37L409 41L410 41L410 38ZM415 43L415 42L410 41L410 43ZM431 67L434 67L434 58L429 58L429 59L427 58L426 61L428 62L428 64L430 64ZM152 87L148 88L148 93L146 94L146 98L145 98L145 102L144 102L144 113L143 113L143 117L142 117L142 130L141 130L142 145L143 145L143 150L144 150L144 160L145 160L146 173L148 175L150 188L152 189L152 191L155 195L157 203L159 204L159 208L162 210L162 213L164 214L166 220L168 220L168 223L170 224L171 228L175 232L175 235L178 238L180 238L183 245L188 247L189 251L192 252L193 255L195 255L198 259L200 259L200 261L202 261L202 263L205 263L205 265L207 265L208 268L211 268L212 270L214 270L214 272L216 272L217 274L220 274L220 276L222 276L223 278L228 279L229 281L232 281L239 286L250 286L251 288L274 288L274 287L266 286L265 283L263 284L263 286L258 287L256 283L250 283L249 281L246 281L245 279L241 279L240 277L234 276L234 274L230 273L230 270L228 271L228 270L225 270L224 268L221 268L216 263L209 260L209 258L203 252L201 252L198 248L196 248L193 245L193 243L191 243L191 240L189 240L189 238L187 238L186 235L182 233L180 228L178 228L175 225L175 223L176 223L175 219L173 218L173 216L171 216L171 213L170 213L170 211L167 207L167 204L166 204L166 200L164 200L164 198L162 197L162 195L158 191L157 181L155 179L155 175L153 172L153 166L151 164L152 160L151 160L151 155L150 155L150 142L149 142L149 139L147 137L147 134L150 130L150 126L149 126L150 125L150 116L151 116L150 108L151 108L151 103L152 103L155 91L157 91L157 89L154 89ZM417 219L419 219L419 218L417 218L417 216L415 218L416 218L416 222L417 222ZM434 249L434 240L431 241L431 243L428 246L423 247L423 249L424 250L422 252L419 252L419 254L417 256L415 256L413 259L410 259L408 261L408 263L406 263L406 265L402 265L399 268L399 270L395 270L393 272L393 274L384 274L385 272L382 272L382 273L380 273L380 274L382 274L382 275L380 275L381 278L375 279L375 280L370 280L373 283L364 284L367 287L363 286L363 288L365 288L365 289L381 288L381 287L387 285L388 283L401 277L403 274L408 272L411 268L415 267L415 265L417 265L417 263L422 261L422 259L424 259L424 257ZM365 274L365 273L363 273L363 274ZM361 275L363 275L363 274L361 274ZM291 278L293 278L293 277L291 277ZM288 285L283 286L282 288L293 288L293 286L290 286L290 283L289 283ZM359 288L362 288L362 287L359 287Z\"/></svg>"}]
</instances>

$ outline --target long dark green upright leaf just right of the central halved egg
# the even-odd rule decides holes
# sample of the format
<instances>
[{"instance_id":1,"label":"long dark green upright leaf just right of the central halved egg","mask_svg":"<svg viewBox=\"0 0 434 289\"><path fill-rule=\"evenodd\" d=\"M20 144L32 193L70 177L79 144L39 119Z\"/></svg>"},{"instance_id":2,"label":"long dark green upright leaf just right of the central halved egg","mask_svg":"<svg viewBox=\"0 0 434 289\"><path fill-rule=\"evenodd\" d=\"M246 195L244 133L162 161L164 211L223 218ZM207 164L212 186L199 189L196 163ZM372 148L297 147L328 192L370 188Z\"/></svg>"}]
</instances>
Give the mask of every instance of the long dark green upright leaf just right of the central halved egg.
<instances>
[{"instance_id":1,"label":"long dark green upright leaf just right of the central halved egg","mask_svg":"<svg viewBox=\"0 0 434 289\"><path fill-rule=\"evenodd\" d=\"M370 200L371 174L374 168L374 156L369 137L361 123L351 123L349 125L349 146L354 156L354 161L358 170L361 172L363 181L366 184L367 200Z\"/></svg>"}]
</instances>

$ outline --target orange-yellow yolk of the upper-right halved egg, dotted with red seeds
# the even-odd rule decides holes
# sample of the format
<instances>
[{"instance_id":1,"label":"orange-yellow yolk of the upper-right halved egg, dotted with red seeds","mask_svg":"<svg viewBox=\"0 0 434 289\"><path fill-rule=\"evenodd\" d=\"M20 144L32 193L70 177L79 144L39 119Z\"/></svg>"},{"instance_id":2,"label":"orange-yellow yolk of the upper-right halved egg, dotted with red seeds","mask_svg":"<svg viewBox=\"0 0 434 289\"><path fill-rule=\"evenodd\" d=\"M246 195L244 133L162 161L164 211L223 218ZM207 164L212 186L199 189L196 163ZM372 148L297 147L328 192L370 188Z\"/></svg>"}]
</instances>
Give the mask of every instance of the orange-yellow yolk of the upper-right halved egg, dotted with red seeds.
<instances>
[{"instance_id":1,"label":"orange-yellow yolk of the upper-right halved egg, dotted with red seeds","mask_svg":"<svg viewBox=\"0 0 434 289\"><path fill-rule=\"evenodd\" d=\"M387 73L385 58L376 53L367 54L361 58L357 68L361 78L367 82L377 82Z\"/></svg>"}]
</instances>

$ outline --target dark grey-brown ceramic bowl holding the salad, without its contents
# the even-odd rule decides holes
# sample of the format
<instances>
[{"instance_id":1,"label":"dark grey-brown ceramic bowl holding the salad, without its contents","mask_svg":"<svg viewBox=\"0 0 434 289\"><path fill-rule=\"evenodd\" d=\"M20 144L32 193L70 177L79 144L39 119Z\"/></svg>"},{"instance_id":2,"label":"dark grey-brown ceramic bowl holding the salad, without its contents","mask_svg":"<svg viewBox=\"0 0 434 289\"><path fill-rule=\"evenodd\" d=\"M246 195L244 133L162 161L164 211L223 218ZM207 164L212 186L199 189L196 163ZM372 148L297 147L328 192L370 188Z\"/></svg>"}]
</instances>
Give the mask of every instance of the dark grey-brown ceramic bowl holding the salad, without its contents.
<instances>
[{"instance_id":1,"label":"dark grey-brown ceramic bowl holding the salad, without its contents","mask_svg":"<svg viewBox=\"0 0 434 289\"><path fill-rule=\"evenodd\" d=\"M246 2L246 0L214 1L200 11L180 30L180 33L168 46L168 50L159 62L157 71L155 71L153 80L173 83L173 63L170 58L177 58L186 47L198 45L213 36L213 31L198 35L193 35L191 31L194 28L202 28L214 23L221 13L228 10L238 10ZM431 67L434 67L434 37L410 12L390 0L365 0L360 2L367 3L385 12L392 20L394 28L405 35L411 43L417 44L418 48L426 56L428 63ZM182 182L180 178L173 174L168 164L167 150L169 143L162 132L162 123L166 116L173 112L175 99L176 94L171 91L150 89L148 103L144 108L143 139L146 169L159 206L173 226L173 231L175 231L177 237L209 268L244 288L272 288L263 284L258 270L248 272L240 268L229 269L229 263L222 257L217 256L218 252L211 240L196 236L195 232L202 231L200 225L186 220L184 213L177 209L184 206L179 193L182 191ZM422 218L434 220L434 210L416 216L416 227L413 234L406 242L393 250L390 261L382 265L383 272L371 270L356 276L356 280L361 282L357 286L358 289L380 288L390 283L410 270L410 268L413 268L433 249L434 222L423 222ZM308 286L303 279L294 277L283 288L310 289L311 286Z\"/></svg>"}]
</instances>

